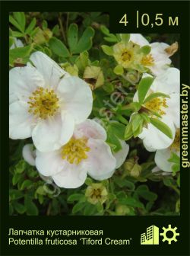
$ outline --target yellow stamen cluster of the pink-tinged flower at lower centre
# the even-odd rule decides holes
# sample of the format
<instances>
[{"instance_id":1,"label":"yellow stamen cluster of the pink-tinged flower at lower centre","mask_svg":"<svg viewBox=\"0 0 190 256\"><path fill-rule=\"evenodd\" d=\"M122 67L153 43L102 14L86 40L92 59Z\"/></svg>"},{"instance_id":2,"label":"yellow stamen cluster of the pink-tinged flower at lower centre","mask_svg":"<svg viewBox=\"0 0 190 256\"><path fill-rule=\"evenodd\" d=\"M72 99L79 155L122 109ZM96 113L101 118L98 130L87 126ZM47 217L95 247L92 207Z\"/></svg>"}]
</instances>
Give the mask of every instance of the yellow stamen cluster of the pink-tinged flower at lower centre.
<instances>
[{"instance_id":1,"label":"yellow stamen cluster of the pink-tinged flower at lower centre","mask_svg":"<svg viewBox=\"0 0 190 256\"><path fill-rule=\"evenodd\" d=\"M66 159L70 164L78 165L83 159L87 159L86 152L89 151L87 138L71 138L65 146L62 146L62 158Z\"/></svg>"}]
</instances>

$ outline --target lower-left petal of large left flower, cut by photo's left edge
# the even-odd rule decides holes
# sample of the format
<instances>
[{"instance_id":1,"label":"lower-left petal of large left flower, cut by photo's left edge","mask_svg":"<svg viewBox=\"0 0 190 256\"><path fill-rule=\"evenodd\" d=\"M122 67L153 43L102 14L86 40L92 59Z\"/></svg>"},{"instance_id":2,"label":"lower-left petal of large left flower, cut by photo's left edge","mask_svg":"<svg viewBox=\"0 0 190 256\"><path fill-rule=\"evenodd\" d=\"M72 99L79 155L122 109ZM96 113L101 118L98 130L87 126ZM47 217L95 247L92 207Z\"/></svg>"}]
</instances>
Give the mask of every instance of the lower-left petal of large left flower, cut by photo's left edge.
<instances>
[{"instance_id":1,"label":"lower-left petal of large left flower, cut by photo's left edge","mask_svg":"<svg viewBox=\"0 0 190 256\"><path fill-rule=\"evenodd\" d=\"M15 101L9 105L9 137L27 139L33 130L33 116L28 112L28 104Z\"/></svg>"}]
</instances>

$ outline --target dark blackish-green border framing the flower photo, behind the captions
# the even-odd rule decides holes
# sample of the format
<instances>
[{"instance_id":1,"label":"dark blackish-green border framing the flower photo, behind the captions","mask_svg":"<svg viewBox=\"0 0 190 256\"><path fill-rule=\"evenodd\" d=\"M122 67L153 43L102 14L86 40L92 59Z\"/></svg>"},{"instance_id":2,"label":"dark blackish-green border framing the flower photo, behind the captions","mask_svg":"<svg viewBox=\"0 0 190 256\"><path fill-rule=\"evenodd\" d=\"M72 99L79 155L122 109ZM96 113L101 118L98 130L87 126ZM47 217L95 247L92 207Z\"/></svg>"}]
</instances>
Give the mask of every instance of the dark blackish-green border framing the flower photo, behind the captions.
<instances>
[{"instance_id":1,"label":"dark blackish-green border framing the flower photo, behind the captions","mask_svg":"<svg viewBox=\"0 0 190 256\"><path fill-rule=\"evenodd\" d=\"M180 33L181 83L189 85L189 2L1 2L1 250L2 255L189 255L189 171L181 168L181 216L8 216L8 12L106 11L110 30L117 33ZM179 16L179 26L135 27L137 10L164 17ZM128 13L128 26L119 24ZM148 226L178 227L179 241L172 245L140 245ZM8 245L8 229L103 229L104 238L132 238L131 245L46 246ZM30 237L28 237L30 238ZM95 237L94 237L95 238ZM98 238L98 237L97 237Z\"/></svg>"}]
</instances>

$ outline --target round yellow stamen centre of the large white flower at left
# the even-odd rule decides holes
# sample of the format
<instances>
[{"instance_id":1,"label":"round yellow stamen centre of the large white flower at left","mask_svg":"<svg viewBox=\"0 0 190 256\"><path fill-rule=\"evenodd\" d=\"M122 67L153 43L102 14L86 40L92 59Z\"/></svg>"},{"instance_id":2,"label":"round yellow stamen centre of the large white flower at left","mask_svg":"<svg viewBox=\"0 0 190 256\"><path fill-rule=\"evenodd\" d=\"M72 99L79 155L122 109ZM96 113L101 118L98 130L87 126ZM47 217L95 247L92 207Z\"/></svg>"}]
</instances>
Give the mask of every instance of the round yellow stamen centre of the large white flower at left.
<instances>
[{"instance_id":1,"label":"round yellow stamen centre of the large white flower at left","mask_svg":"<svg viewBox=\"0 0 190 256\"><path fill-rule=\"evenodd\" d=\"M53 116L59 109L59 98L51 89L37 88L29 97L30 105L28 112L34 114L36 117L46 119Z\"/></svg>"}]
</instances>

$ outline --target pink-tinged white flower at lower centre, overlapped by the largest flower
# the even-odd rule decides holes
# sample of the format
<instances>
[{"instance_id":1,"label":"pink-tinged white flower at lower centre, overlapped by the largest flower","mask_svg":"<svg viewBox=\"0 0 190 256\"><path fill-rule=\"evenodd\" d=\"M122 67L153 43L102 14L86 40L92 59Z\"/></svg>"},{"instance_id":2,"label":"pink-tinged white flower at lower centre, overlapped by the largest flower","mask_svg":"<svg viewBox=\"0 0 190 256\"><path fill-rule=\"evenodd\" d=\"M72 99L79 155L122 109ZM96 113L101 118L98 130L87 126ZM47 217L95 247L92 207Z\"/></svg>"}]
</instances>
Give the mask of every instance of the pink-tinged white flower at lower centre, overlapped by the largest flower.
<instances>
[{"instance_id":1,"label":"pink-tinged white flower at lower centre, overlapped by the largest flower","mask_svg":"<svg viewBox=\"0 0 190 256\"><path fill-rule=\"evenodd\" d=\"M36 151L36 168L44 176L52 176L59 187L75 188L84 184L89 174L102 181L110 178L125 161L128 145L112 154L106 143L106 131L94 120L86 120L74 129L74 135L61 149L52 152Z\"/></svg>"}]
</instances>

